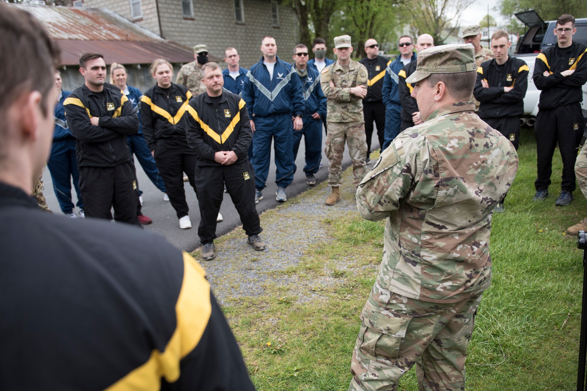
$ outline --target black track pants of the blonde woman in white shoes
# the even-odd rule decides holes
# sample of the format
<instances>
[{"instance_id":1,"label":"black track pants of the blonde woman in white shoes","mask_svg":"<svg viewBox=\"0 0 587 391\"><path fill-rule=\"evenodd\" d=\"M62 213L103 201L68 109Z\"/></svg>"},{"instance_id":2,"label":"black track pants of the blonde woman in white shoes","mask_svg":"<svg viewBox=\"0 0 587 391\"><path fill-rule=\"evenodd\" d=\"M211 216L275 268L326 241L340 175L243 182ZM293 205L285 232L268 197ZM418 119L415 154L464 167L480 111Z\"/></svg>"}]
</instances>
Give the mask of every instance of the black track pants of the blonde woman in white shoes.
<instances>
[{"instance_id":1,"label":"black track pants of the blonde woman in white shoes","mask_svg":"<svg viewBox=\"0 0 587 391\"><path fill-rule=\"evenodd\" d=\"M190 180L195 190L194 170L197 157L187 145L186 140L158 139L155 146L155 163L163 183L167 189L167 196L171 206L176 210L177 218L188 215L190 208L185 201L183 173ZM197 193L196 193L197 194Z\"/></svg>"}]
</instances>

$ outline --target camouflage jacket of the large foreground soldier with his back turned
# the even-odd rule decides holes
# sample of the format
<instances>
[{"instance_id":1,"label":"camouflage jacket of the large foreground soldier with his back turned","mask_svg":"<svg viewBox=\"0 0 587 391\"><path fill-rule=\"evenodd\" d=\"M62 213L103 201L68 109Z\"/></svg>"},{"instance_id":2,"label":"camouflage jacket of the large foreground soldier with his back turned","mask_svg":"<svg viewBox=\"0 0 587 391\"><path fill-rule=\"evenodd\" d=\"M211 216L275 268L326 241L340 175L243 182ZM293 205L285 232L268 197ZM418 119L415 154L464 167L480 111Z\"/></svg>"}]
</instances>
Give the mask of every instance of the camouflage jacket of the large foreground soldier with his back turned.
<instances>
[{"instance_id":1,"label":"camouflage jacket of the large foreground soldier with his back turned","mask_svg":"<svg viewBox=\"0 0 587 391\"><path fill-rule=\"evenodd\" d=\"M404 130L357 188L360 215L387 218L383 288L451 303L490 285L492 210L514 180L518 156L473 108L447 105Z\"/></svg>"}]
</instances>

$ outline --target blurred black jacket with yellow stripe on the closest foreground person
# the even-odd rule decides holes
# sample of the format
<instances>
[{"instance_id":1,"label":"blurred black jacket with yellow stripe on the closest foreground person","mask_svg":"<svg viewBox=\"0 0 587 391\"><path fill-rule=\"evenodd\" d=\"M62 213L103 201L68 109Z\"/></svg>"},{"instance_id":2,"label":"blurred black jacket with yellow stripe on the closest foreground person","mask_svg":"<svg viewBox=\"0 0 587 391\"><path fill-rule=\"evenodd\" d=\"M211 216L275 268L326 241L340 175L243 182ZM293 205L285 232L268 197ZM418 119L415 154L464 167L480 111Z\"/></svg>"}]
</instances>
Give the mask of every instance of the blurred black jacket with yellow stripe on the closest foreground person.
<instances>
[{"instance_id":1,"label":"blurred black jacket with yellow stripe on the closest foreground person","mask_svg":"<svg viewBox=\"0 0 587 391\"><path fill-rule=\"evenodd\" d=\"M0 268L0 390L254 391L204 270L160 235L0 182Z\"/></svg>"}]
</instances>

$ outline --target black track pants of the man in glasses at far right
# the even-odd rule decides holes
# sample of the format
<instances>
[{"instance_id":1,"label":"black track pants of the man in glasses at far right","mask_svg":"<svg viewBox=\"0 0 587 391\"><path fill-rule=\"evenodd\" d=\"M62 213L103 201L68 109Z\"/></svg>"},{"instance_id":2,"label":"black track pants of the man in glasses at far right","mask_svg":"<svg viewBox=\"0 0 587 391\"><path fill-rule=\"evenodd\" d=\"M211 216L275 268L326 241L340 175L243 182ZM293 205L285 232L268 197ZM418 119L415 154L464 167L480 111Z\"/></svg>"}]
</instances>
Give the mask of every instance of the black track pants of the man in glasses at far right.
<instances>
[{"instance_id":1,"label":"black track pants of the man in glasses at far right","mask_svg":"<svg viewBox=\"0 0 587 391\"><path fill-rule=\"evenodd\" d=\"M575 190L575 160L584 127L585 120L579 102L551 110L539 110L534 125L538 155L538 178L534 182L536 191L548 190L551 184L552 155L557 142L562 157L561 190Z\"/></svg>"}]
</instances>

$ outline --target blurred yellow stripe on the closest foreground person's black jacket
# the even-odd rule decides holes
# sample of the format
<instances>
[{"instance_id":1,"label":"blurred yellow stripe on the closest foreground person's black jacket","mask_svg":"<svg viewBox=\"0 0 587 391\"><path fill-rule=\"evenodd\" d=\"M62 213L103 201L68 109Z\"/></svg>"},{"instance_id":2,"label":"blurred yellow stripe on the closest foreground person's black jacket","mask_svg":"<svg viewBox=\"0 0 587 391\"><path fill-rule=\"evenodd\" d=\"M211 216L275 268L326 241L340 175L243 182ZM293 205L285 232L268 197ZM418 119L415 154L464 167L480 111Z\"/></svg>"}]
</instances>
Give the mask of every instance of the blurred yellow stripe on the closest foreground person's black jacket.
<instances>
[{"instance_id":1,"label":"blurred yellow stripe on the closest foreground person's black jacket","mask_svg":"<svg viewBox=\"0 0 587 391\"><path fill-rule=\"evenodd\" d=\"M106 391L158 391L161 377L168 383L180 377L180 361L198 345L210 314L210 284L205 271L187 253L183 253L184 277L176 302L176 330L163 352L153 349L150 358L138 368L118 380Z\"/></svg>"}]
</instances>

